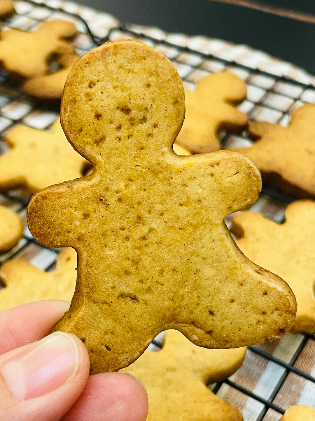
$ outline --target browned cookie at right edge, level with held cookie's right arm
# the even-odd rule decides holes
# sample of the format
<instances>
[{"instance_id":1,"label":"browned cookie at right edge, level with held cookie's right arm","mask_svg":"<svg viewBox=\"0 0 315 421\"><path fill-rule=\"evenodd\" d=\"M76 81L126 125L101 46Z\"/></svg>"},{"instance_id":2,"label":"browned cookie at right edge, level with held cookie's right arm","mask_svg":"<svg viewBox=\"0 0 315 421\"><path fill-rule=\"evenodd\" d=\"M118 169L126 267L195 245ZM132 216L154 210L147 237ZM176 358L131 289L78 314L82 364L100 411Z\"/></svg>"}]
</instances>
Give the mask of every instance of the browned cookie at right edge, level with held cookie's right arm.
<instances>
[{"instance_id":1,"label":"browned cookie at right edge, level with held cookie's right arm","mask_svg":"<svg viewBox=\"0 0 315 421\"><path fill-rule=\"evenodd\" d=\"M249 133L259 140L234 150L247 155L287 194L315 197L315 104L296 109L288 127L256 121L249 124Z\"/></svg>"}]
</instances>

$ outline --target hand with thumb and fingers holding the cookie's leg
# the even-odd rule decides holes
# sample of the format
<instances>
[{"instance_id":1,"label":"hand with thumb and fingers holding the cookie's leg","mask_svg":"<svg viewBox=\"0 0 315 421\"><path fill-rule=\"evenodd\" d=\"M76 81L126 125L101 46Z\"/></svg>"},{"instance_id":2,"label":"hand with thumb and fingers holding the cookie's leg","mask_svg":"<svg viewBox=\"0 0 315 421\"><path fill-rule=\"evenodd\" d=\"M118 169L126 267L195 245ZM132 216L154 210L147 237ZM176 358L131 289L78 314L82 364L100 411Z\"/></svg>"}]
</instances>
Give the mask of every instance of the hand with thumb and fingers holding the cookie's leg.
<instances>
[{"instance_id":1,"label":"hand with thumb and fingers holding the cookie's leg","mask_svg":"<svg viewBox=\"0 0 315 421\"><path fill-rule=\"evenodd\" d=\"M79 338L45 337L68 307L47 300L0 312L0 421L144 421L147 394L135 377L89 377Z\"/></svg>"}]
</instances>

